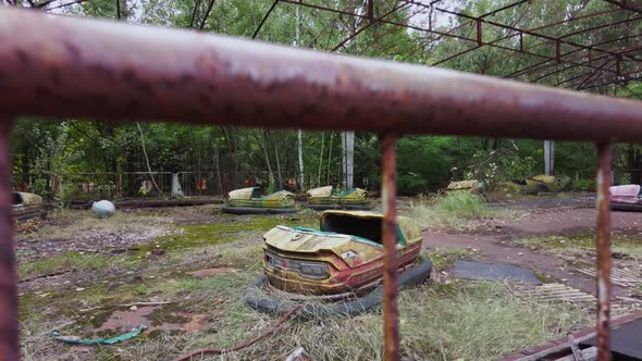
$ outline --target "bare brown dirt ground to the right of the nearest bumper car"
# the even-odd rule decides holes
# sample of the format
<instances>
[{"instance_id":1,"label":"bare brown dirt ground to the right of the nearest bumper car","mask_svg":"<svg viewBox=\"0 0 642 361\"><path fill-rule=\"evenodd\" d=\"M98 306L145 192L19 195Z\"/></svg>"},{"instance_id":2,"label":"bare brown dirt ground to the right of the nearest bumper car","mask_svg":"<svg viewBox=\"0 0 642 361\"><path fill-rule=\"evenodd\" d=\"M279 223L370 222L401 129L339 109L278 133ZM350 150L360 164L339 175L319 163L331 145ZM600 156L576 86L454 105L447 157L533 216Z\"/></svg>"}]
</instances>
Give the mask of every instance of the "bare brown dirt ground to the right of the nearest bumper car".
<instances>
[{"instance_id":1,"label":"bare brown dirt ground to the right of the nearest bumper car","mask_svg":"<svg viewBox=\"0 0 642 361\"><path fill-rule=\"evenodd\" d=\"M590 235L595 232L597 216L594 208L588 208L593 203L594 197L581 196L563 200L543 197L539 200L493 204L496 208L528 211L516 219L491 220L483 231L479 232L459 234L424 232L423 246L433 250L437 248L472 249L476 258L482 261L526 266L543 276L556 278L571 287L594 294L596 289L594 279L573 272L572 259L556 257L546 250L522 247L514 242L528 237ZM642 242L642 213L613 212L612 232L629 235ZM588 256L589 263L593 262L594 254L588 252ZM587 263L585 259L580 261ZM615 267L618 266L618 262L614 260ZM628 291L629 289L614 286L615 296L618 294L629 296ZM638 292L637 289L632 291Z\"/></svg>"}]
</instances>

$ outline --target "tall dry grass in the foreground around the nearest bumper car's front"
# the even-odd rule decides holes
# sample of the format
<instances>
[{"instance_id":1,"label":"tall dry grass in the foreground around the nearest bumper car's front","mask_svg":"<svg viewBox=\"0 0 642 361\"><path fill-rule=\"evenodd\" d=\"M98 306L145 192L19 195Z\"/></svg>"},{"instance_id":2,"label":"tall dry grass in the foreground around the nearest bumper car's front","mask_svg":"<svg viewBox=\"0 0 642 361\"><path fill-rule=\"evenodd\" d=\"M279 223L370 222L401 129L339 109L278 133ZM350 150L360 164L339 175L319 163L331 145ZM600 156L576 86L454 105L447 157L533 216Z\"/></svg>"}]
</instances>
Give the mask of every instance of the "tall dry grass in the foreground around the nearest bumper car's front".
<instances>
[{"instance_id":1,"label":"tall dry grass in the foreground around the nearest bumper car's front","mask_svg":"<svg viewBox=\"0 0 642 361\"><path fill-rule=\"evenodd\" d=\"M182 309L208 314L207 328L133 339L101 348L97 360L159 360L203 347L230 347L260 334L275 318L240 300L254 273L220 279L178 281L174 290L189 301ZM210 300L205 304L205 300ZM499 285L457 282L424 285L399 295L402 353L410 360L490 360L559 337L590 324L580 310L559 304L522 303ZM276 334L225 360L283 360L304 347L314 360L380 360L383 356L381 310L356 318L289 321ZM220 359L212 357L206 359Z\"/></svg>"}]
</instances>

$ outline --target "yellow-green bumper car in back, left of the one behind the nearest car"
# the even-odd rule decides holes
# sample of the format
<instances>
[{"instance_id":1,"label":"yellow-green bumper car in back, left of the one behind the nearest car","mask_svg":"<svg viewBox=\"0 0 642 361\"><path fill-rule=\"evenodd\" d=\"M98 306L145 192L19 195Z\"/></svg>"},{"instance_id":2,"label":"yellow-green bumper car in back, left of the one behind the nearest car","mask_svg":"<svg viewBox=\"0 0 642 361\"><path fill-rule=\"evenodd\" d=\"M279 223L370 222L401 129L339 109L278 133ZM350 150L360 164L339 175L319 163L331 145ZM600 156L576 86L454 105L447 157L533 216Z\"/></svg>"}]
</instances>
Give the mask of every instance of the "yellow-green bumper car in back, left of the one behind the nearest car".
<instances>
[{"instance_id":1,"label":"yellow-green bumper car in back, left of the one behind the nearest car","mask_svg":"<svg viewBox=\"0 0 642 361\"><path fill-rule=\"evenodd\" d=\"M259 187L242 188L227 194L223 212L231 214L296 213L294 194L281 190L261 197Z\"/></svg>"}]
</instances>

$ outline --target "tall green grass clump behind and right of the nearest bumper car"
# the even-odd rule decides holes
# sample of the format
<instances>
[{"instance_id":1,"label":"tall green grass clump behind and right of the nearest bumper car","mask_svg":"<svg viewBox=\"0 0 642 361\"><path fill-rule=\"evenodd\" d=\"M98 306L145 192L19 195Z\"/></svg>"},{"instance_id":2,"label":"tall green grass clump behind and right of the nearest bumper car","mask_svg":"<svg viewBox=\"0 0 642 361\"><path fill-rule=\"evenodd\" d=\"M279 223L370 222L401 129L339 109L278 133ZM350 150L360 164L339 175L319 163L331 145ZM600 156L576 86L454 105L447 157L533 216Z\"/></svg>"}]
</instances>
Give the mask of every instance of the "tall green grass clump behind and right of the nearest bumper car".
<instances>
[{"instance_id":1,"label":"tall green grass clump behind and right of the nearest bumper car","mask_svg":"<svg viewBox=\"0 0 642 361\"><path fill-rule=\"evenodd\" d=\"M502 216L506 212L490 209L486 200L470 191L450 191L412 201L408 215L423 227L464 231L479 226L480 221Z\"/></svg>"}]
</instances>

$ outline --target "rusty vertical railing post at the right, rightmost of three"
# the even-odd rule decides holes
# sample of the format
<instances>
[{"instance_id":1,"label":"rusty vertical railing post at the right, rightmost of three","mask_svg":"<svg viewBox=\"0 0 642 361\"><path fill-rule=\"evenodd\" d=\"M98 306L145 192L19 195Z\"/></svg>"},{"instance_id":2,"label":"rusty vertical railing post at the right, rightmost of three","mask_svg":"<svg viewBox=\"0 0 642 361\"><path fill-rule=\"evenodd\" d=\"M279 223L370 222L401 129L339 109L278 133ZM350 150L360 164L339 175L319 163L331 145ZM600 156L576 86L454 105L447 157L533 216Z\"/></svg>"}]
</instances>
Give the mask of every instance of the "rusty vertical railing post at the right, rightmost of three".
<instances>
[{"instance_id":1,"label":"rusty vertical railing post at the right, rightmost of three","mask_svg":"<svg viewBox=\"0 0 642 361\"><path fill-rule=\"evenodd\" d=\"M610 186L612 145L597 145L597 360L610 360Z\"/></svg>"}]
</instances>

